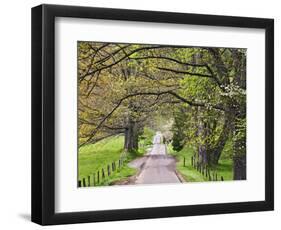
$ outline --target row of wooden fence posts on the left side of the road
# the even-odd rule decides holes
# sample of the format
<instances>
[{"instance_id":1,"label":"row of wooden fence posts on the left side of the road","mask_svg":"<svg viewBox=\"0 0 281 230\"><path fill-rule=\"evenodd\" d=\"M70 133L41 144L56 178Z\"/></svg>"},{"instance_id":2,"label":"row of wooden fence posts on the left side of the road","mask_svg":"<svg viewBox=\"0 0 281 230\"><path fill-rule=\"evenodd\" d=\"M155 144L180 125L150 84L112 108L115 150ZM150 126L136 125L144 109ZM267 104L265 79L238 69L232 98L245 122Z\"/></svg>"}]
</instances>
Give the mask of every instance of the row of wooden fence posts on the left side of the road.
<instances>
[{"instance_id":1,"label":"row of wooden fence posts on the left side of the road","mask_svg":"<svg viewBox=\"0 0 281 230\"><path fill-rule=\"evenodd\" d=\"M118 161L113 161L100 170L93 172L91 175L78 180L78 187L90 187L101 184L106 178L122 168L125 158L125 155L121 155Z\"/></svg>"}]
</instances>

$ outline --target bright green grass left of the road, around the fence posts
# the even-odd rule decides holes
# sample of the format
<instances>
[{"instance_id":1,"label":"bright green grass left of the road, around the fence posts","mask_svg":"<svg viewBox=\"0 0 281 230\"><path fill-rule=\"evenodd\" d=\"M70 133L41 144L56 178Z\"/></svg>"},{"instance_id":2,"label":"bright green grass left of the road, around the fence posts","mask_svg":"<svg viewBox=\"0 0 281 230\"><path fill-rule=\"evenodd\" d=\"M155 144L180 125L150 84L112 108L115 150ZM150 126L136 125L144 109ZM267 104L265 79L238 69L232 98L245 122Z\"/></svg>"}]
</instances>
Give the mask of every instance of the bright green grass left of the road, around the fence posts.
<instances>
[{"instance_id":1,"label":"bright green grass left of the road, around the fence posts","mask_svg":"<svg viewBox=\"0 0 281 230\"><path fill-rule=\"evenodd\" d=\"M143 145L139 151L125 153L124 136L118 135L106 138L95 144L89 144L79 149L78 153L78 178L86 179L88 186L88 176L90 176L90 186L93 186L93 175L100 171L100 183L95 186L111 185L114 182L125 179L136 174L137 170L130 168L127 164L137 157L141 157L147 146ZM123 165L119 169L118 160L123 156ZM116 164L116 170L111 172L110 176L107 175L107 165ZM105 178L101 179L101 170L105 171Z\"/></svg>"}]
</instances>

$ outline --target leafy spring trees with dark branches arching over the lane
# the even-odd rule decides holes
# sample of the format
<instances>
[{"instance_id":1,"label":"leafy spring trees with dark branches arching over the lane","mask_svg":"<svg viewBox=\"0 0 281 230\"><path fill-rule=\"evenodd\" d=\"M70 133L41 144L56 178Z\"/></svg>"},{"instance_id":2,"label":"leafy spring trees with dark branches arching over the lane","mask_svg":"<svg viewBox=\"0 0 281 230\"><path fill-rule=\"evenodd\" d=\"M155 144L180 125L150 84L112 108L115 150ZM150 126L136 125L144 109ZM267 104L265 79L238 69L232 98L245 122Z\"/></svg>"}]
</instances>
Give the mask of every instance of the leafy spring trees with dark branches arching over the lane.
<instances>
[{"instance_id":1,"label":"leafy spring trees with dark branches arching over the lane","mask_svg":"<svg viewBox=\"0 0 281 230\"><path fill-rule=\"evenodd\" d=\"M233 180L246 179L246 49L81 41L78 87L79 154L122 136L136 155L160 130L213 168L227 145Z\"/></svg>"}]
</instances>

